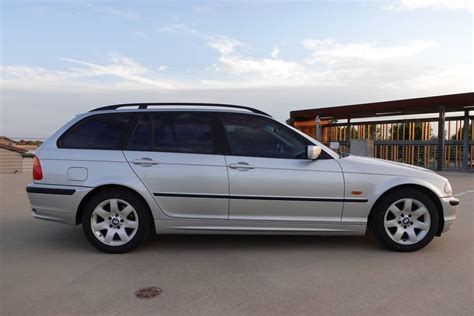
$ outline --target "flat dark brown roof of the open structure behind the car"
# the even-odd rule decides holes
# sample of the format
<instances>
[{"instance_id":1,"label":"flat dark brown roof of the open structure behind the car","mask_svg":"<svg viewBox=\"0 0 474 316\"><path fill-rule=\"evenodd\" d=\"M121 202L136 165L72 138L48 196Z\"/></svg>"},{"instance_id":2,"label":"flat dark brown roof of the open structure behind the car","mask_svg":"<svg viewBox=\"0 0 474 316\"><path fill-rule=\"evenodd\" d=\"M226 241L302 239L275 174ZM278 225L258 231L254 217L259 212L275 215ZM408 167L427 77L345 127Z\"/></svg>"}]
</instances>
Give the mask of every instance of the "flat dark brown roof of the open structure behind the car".
<instances>
[{"instance_id":1,"label":"flat dark brown roof of the open structure behind the car","mask_svg":"<svg viewBox=\"0 0 474 316\"><path fill-rule=\"evenodd\" d=\"M309 120L318 115L321 118L347 119L427 114L438 113L440 105L444 105L446 112L474 110L474 92L297 110L291 111L290 117Z\"/></svg>"}]
</instances>

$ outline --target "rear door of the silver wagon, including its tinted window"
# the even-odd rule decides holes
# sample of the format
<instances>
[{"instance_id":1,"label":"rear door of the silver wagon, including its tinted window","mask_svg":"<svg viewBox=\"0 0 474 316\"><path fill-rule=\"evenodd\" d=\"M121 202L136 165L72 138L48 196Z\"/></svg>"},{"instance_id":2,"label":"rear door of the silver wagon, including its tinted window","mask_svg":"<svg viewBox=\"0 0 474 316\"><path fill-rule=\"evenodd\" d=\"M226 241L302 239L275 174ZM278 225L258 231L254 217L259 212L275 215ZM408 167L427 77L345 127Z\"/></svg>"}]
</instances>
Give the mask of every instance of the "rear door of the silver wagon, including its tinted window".
<instances>
[{"instance_id":1,"label":"rear door of the silver wagon, including its tinted window","mask_svg":"<svg viewBox=\"0 0 474 316\"><path fill-rule=\"evenodd\" d=\"M216 114L193 111L143 113L138 119L124 154L166 215L228 218L219 124Z\"/></svg>"}]
</instances>

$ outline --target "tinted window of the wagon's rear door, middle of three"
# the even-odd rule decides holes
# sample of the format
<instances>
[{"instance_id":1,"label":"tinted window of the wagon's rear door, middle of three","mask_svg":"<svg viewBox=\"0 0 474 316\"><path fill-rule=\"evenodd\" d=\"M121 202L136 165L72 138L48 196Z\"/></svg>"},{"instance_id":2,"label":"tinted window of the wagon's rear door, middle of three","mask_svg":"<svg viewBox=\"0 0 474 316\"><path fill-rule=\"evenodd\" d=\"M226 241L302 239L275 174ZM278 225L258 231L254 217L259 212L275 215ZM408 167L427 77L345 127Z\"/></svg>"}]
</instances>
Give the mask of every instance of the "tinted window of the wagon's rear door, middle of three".
<instances>
[{"instance_id":1,"label":"tinted window of the wagon's rear door, middle of three","mask_svg":"<svg viewBox=\"0 0 474 316\"><path fill-rule=\"evenodd\" d=\"M138 121L128 148L213 154L217 152L214 121L208 113L145 114Z\"/></svg>"}]
</instances>

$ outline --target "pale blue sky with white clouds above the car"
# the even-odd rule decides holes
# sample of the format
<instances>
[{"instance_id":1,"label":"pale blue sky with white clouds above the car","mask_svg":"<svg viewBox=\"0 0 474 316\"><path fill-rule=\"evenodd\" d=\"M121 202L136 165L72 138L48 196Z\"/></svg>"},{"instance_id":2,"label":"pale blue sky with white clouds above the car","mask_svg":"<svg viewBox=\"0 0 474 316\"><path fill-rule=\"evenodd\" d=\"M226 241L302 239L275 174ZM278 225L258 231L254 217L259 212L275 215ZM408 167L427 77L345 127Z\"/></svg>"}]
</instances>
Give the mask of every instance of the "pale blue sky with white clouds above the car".
<instances>
[{"instance_id":1,"label":"pale blue sky with white clouds above the car","mask_svg":"<svg viewBox=\"0 0 474 316\"><path fill-rule=\"evenodd\" d=\"M128 102L291 110L474 90L470 0L1 1L0 135Z\"/></svg>"}]
</instances>

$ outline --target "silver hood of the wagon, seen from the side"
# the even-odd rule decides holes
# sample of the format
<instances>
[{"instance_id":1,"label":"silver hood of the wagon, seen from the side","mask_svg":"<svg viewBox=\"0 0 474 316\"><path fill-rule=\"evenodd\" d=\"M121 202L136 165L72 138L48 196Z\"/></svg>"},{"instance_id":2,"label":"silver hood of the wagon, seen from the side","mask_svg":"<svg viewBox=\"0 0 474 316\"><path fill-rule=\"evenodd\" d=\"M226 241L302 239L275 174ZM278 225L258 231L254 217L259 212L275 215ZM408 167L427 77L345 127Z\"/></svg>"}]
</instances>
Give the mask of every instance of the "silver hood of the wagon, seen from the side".
<instances>
[{"instance_id":1,"label":"silver hood of the wagon, seen from the side","mask_svg":"<svg viewBox=\"0 0 474 316\"><path fill-rule=\"evenodd\" d=\"M344 172L384 174L418 178L443 178L432 170L390 160L360 156L347 156L344 158L339 158L338 161Z\"/></svg>"}]
</instances>

